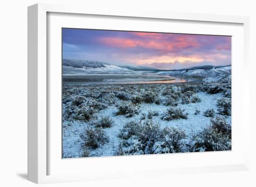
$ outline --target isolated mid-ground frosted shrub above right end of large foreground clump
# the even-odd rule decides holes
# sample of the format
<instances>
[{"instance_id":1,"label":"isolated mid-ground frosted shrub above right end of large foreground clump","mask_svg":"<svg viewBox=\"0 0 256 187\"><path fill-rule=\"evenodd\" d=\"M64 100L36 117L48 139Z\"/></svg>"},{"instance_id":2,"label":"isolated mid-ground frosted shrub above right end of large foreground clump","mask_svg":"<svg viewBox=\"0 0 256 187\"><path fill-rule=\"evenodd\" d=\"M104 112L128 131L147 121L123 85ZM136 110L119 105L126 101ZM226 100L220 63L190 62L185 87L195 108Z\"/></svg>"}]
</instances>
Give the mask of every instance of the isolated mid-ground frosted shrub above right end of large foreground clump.
<instances>
[{"instance_id":1,"label":"isolated mid-ground frosted shrub above right end of large foreground clump","mask_svg":"<svg viewBox=\"0 0 256 187\"><path fill-rule=\"evenodd\" d=\"M184 113L184 109L181 108L174 108L171 107L169 108L165 113L162 114L161 119L162 120L174 120L174 119L187 119L188 118L188 114Z\"/></svg>"}]
</instances>

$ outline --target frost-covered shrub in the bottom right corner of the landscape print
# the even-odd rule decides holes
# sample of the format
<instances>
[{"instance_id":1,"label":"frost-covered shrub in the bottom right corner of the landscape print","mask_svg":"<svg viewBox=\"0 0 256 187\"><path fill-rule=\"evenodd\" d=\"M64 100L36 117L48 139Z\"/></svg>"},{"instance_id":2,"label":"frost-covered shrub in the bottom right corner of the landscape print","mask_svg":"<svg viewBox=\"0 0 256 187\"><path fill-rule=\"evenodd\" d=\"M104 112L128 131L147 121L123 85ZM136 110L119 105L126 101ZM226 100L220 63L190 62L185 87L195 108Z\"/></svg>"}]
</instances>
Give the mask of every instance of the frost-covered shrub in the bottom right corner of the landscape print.
<instances>
[{"instance_id":1,"label":"frost-covered shrub in the bottom right corner of the landscape print","mask_svg":"<svg viewBox=\"0 0 256 187\"><path fill-rule=\"evenodd\" d=\"M231 139L213 128L205 128L193 137L192 152L231 150Z\"/></svg>"}]
</instances>

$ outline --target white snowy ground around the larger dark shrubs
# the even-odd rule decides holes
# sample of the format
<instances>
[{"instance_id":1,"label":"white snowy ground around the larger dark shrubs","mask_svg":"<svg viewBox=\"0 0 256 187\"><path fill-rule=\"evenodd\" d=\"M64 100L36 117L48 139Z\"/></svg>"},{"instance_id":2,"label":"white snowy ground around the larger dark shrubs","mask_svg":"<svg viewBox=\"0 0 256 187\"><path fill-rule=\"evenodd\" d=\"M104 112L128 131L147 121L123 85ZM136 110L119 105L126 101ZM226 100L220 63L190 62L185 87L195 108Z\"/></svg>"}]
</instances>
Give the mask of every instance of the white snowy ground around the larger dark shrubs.
<instances>
[{"instance_id":1,"label":"white snowy ground around the larger dark shrubs","mask_svg":"<svg viewBox=\"0 0 256 187\"><path fill-rule=\"evenodd\" d=\"M231 78L229 77L230 81ZM221 85L224 89L222 91L217 91L218 93L209 94L211 86ZM228 83L231 85L231 82ZM175 119L175 120L162 120L161 117L163 113L171 107L166 106L166 100L168 99L168 94L164 95L163 91L168 88L173 88L176 92L180 93L185 87L194 86L196 90L192 92L193 96L199 97L200 102L182 104L182 99L178 98L177 106L184 109L184 113L187 113L187 119ZM198 88L198 89L197 89ZM216 88L214 88L216 89ZM227 84L223 83L202 83L202 84L134 84L134 85L89 85L89 86L79 86L79 85L64 85L63 90L63 158L76 158L81 157L81 152L85 149L84 140L81 139L81 134L84 133L84 129L88 127L95 128L95 123L99 122L101 117L109 116L112 120L112 126L109 128L104 128L105 135L108 137L108 142L100 145L98 148L86 147L89 152L89 156L113 156L117 155L120 142L122 139L119 137L120 130L123 126L130 122L136 121L143 123L148 120L148 111L155 111L159 115L153 116L152 119L155 123L159 123L160 128L164 127L175 127L181 129L185 132L186 137L185 142L191 142L193 135L201 132L204 128L207 128L211 124L211 117L204 116L204 112L208 109L213 109L218 114L217 101L222 97L227 97L228 90L231 87L227 87ZM152 103L145 103L143 100L141 103L136 104L138 107L138 114L134 114L131 117L126 117L126 115L117 115L119 111L119 106L121 104L132 103L132 98L135 96L141 96L145 93L155 94L155 100L157 98L158 103L155 101ZM124 98L118 97L124 94ZM127 93L128 95L125 95ZM186 94L186 91L181 92L181 94ZM226 95L225 95L226 94ZM74 101L78 99L78 103L74 104ZM182 95L181 95L182 97ZM230 95L231 97L231 95ZM95 103L90 103L91 101ZM81 108L88 107L94 108L94 114L89 120L84 120L78 118L78 114ZM200 114L195 115L195 110L200 110ZM143 114L146 116L143 119ZM231 116L221 115L225 118L226 122L231 125ZM189 150L183 150L183 152L188 152Z\"/></svg>"}]
</instances>

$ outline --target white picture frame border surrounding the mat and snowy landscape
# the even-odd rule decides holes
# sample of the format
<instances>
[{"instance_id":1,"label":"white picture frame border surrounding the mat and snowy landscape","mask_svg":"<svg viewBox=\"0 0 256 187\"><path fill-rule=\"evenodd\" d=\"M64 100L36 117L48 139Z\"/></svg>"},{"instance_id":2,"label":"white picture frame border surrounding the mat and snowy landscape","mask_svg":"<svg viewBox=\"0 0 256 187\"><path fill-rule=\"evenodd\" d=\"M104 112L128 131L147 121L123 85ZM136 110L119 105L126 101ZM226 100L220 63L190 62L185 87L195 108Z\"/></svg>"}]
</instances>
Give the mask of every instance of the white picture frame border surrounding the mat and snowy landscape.
<instances>
[{"instance_id":1,"label":"white picture frame border surrounding the mat and snowy landscape","mask_svg":"<svg viewBox=\"0 0 256 187\"><path fill-rule=\"evenodd\" d=\"M92 9L90 7L81 6L71 6L71 5L54 5L54 4L36 4L28 7L28 180L35 183L53 183L53 182L70 182L70 181L87 181L87 180L99 180L99 179L118 179L126 177L136 177L136 176L150 176L150 175L166 175L166 174L192 174L192 173L204 173L204 172L221 172L221 171L238 171L238 170L248 170L249 169L249 81L243 82L243 89L240 89L240 96L243 96L240 101L239 111L242 111L241 116L239 116L239 121L243 123L243 131L241 131L241 136L243 137L244 148L240 153L241 159L239 161L234 160L230 163L220 163L215 165L212 163L198 164L195 166L187 166L184 164L181 167L147 167L146 162L143 165L143 160L154 162L157 159L156 156L150 155L144 156L129 156L121 159L121 157L111 157L111 158L90 158L93 160L83 159L70 159L69 163L65 167L67 170L71 171L69 173L61 173L60 171L50 172L49 168L52 164L52 158L49 155L51 145L49 128L49 113L48 106L49 99L49 88L51 88L50 82L53 81L49 78L49 68L52 66L47 64L50 61L47 55L47 47L51 41L47 38L47 14L49 13L72 13L72 14L83 14L96 16L114 16L120 19L122 18L135 18L135 19L155 19L157 20L176 20L176 21L195 21L204 23L220 23L225 24L240 24L243 27L243 38L241 39L243 45L243 63L240 64L242 68L242 73L244 77L249 76L249 18L242 16L224 16L224 15L212 15L212 14L194 14L194 13L170 13L170 12L160 12L160 11L131 11L131 10L110 10L110 9ZM60 44L61 45L61 44ZM52 45L51 45L52 46ZM54 46L54 45L53 45ZM236 66L236 68L240 68ZM233 65L232 65L233 68ZM233 71L232 69L232 74ZM233 76L233 75L232 75ZM233 88L232 83L232 88ZM232 92L233 94L233 92ZM233 97L233 95L232 95ZM242 102L243 101L243 102ZM234 100L232 100L233 105ZM233 107L233 106L232 106ZM232 108L233 110L233 108ZM237 116L238 117L238 116ZM233 135L232 135L233 138ZM232 139L233 143L233 139ZM55 153L54 153L55 154ZM200 154L204 154L201 156ZM200 153L193 154L193 159L201 159L205 157L206 154L212 153ZM214 153L213 153L214 154ZM224 155L226 154L226 155ZM229 156L232 153L218 153L218 155L211 155L212 157L221 158L222 156ZM56 155L56 154L55 154ZM167 159L169 155L161 155L161 159ZM186 155L185 155L186 156ZM232 155L231 155L232 156ZM173 158L184 157L182 154L177 154ZM191 157L191 158L192 158ZM243 158L242 158L243 157ZM146 159L145 159L146 158ZM159 157L158 157L159 158ZM60 158L61 159L61 158ZM71 161L73 160L73 161ZM117 170L118 165L123 164L124 161L129 163L129 161L141 162L141 165L130 170L122 172ZM53 160L54 161L54 160ZM216 160L218 161L218 160ZM88 164L88 168L81 169L79 172L74 172L72 174L71 164L76 165L84 162L83 164ZM104 167L109 167L109 165L104 165L106 162L113 163L117 165L113 166L112 169L97 172L88 172L90 167L101 164ZM55 162L54 162L55 163ZM59 164L62 164L60 161ZM57 165L55 167L60 167ZM74 168L73 168L74 169ZM83 172L84 171L84 172ZM131 172L132 171L132 172ZM143 173L141 173L143 171ZM97 174L97 175L95 175Z\"/></svg>"}]
</instances>

